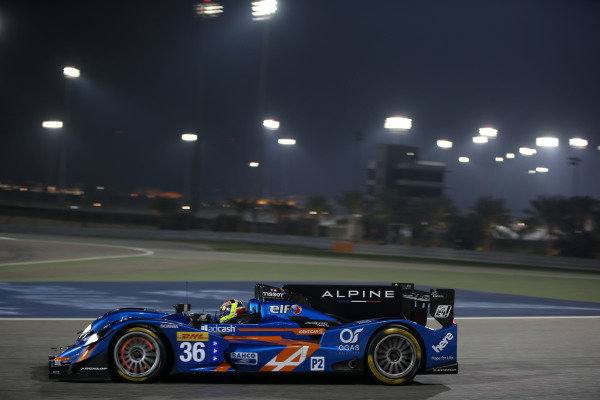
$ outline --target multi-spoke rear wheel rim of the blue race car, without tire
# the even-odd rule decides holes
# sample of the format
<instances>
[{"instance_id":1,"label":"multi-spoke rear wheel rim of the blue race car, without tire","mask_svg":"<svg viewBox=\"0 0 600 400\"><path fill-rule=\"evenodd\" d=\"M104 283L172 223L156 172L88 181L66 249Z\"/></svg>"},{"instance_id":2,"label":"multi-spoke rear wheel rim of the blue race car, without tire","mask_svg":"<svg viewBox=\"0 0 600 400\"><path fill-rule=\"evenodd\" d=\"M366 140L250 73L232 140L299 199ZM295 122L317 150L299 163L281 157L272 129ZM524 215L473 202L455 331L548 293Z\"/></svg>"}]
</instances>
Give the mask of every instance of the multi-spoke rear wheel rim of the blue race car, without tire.
<instances>
[{"instance_id":1,"label":"multi-spoke rear wheel rim of the blue race car, without tire","mask_svg":"<svg viewBox=\"0 0 600 400\"><path fill-rule=\"evenodd\" d=\"M388 335L375 346L375 367L387 378L402 378L412 371L417 361L416 353L411 340L403 335Z\"/></svg>"}]
</instances>

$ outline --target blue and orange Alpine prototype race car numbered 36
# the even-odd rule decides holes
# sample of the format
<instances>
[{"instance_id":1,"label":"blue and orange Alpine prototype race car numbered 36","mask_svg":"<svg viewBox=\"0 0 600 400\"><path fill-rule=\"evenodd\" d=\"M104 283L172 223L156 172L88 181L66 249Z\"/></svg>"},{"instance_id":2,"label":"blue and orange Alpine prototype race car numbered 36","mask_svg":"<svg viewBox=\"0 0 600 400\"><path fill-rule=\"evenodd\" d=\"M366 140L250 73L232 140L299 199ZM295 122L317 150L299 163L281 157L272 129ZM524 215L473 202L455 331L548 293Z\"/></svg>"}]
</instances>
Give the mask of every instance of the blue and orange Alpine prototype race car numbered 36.
<instances>
[{"instance_id":1,"label":"blue and orange Alpine prototype race car numbered 36","mask_svg":"<svg viewBox=\"0 0 600 400\"><path fill-rule=\"evenodd\" d=\"M427 327L431 315L441 328ZM50 356L60 380L152 382L199 372L356 372L389 384L456 374L454 290L384 285L255 285L232 323L211 314L123 308Z\"/></svg>"}]
</instances>

